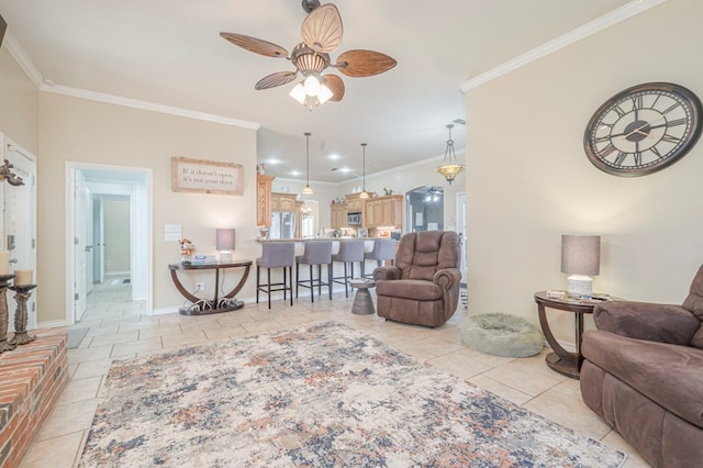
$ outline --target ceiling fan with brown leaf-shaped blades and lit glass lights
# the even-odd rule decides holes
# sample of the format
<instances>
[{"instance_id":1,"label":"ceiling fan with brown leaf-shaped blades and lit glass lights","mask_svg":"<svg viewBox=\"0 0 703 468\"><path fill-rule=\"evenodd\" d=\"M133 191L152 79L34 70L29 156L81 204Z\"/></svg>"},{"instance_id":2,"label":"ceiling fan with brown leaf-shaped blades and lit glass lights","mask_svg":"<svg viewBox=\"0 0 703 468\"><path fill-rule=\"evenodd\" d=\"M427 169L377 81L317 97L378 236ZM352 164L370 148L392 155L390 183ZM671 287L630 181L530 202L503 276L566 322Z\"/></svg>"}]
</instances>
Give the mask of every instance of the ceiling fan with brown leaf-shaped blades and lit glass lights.
<instances>
[{"instance_id":1,"label":"ceiling fan with brown leaf-shaped blades and lit glass lights","mask_svg":"<svg viewBox=\"0 0 703 468\"><path fill-rule=\"evenodd\" d=\"M347 51L332 62L330 53L342 42L342 16L332 3L320 5L319 0L302 0L308 16L300 30L303 42L293 47L289 55L283 47L270 42L237 33L220 33L232 44L267 57L286 58L294 66L294 71L277 71L261 78L255 86L257 90L287 85L300 73L303 80L290 92L290 96L308 109L324 104L327 100L341 101L344 98L344 81L337 75L321 75L328 67L336 68L348 77L369 77L390 70L397 62L380 52L354 49Z\"/></svg>"}]
</instances>

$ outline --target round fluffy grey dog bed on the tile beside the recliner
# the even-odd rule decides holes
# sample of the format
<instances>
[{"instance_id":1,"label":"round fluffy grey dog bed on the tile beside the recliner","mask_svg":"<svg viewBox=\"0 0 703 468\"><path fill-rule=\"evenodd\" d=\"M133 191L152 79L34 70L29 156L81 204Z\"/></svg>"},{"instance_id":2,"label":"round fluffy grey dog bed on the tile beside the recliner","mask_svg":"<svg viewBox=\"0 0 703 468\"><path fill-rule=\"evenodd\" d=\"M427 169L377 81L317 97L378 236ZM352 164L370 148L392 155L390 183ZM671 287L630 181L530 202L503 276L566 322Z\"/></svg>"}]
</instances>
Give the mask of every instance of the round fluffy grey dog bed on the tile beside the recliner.
<instances>
[{"instance_id":1,"label":"round fluffy grey dog bed on the tile beside the recliner","mask_svg":"<svg viewBox=\"0 0 703 468\"><path fill-rule=\"evenodd\" d=\"M506 357L534 356L544 346L539 328L525 319L502 313L467 317L461 342L481 353Z\"/></svg>"}]
</instances>

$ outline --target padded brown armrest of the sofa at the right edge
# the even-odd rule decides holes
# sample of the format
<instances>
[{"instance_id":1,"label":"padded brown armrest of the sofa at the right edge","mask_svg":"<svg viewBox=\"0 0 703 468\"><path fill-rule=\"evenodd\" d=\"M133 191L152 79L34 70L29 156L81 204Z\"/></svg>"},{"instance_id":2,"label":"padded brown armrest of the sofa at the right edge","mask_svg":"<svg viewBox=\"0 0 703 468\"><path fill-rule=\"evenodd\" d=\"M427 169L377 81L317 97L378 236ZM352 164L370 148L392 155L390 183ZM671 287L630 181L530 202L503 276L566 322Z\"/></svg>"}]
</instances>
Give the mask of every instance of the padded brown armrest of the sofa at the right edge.
<instances>
[{"instance_id":1,"label":"padded brown armrest of the sofa at the right edge","mask_svg":"<svg viewBox=\"0 0 703 468\"><path fill-rule=\"evenodd\" d=\"M688 345L701 321L681 305L605 301L593 310L599 330L631 338Z\"/></svg>"}]
</instances>

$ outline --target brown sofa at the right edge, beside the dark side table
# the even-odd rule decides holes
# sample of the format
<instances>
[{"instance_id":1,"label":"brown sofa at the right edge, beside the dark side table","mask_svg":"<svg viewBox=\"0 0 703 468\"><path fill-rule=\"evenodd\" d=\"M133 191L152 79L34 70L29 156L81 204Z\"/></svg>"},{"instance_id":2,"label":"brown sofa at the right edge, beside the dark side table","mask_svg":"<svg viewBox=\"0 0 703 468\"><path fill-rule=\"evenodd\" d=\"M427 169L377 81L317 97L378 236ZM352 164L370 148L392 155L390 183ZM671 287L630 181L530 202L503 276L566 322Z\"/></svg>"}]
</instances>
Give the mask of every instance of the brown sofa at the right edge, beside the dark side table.
<instances>
[{"instance_id":1,"label":"brown sofa at the right edge, beside the dark side table","mask_svg":"<svg viewBox=\"0 0 703 468\"><path fill-rule=\"evenodd\" d=\"M607 301L593 319L585 404L651 465L703 466L703 266L682 305Z\"/></svg>"}]
</instances>

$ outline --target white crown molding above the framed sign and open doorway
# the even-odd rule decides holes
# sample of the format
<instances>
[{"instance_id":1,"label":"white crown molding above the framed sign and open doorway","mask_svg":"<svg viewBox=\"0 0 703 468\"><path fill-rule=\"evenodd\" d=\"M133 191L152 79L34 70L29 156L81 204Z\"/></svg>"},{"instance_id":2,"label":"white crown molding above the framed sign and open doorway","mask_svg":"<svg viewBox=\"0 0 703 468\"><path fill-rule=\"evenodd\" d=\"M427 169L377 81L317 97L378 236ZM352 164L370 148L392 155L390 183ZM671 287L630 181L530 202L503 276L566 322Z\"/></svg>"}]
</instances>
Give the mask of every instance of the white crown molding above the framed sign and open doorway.
<instances>
[{"instance_id":1,"label":"white crown molding above the framed sign and open doorway","mask_svg":"<svg viewBox=\"0 0 703 468\"><path fill-rule=\"evenodd\" d=\"M88 91L85 89L70 88L60 85L46 85L40 87L41 91L52 92L55 94L70 96L74 98L88 99L91 101L105 102L109 104L124 105L126 108L142 109L145 111L160 112L169 115L178 115L189 119L202 120L205 122L221 123L224 125L239 126L243 129L259 130L260 124L238 119L225 118L222 115L209 114L205 112L197 112L188 109L174 108L171 105L163 105L138 99L122 98L120 96L105 94L103 92Z\"/></svg>"}]
</instances>

